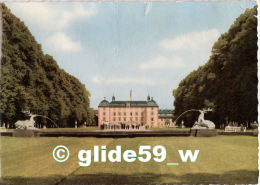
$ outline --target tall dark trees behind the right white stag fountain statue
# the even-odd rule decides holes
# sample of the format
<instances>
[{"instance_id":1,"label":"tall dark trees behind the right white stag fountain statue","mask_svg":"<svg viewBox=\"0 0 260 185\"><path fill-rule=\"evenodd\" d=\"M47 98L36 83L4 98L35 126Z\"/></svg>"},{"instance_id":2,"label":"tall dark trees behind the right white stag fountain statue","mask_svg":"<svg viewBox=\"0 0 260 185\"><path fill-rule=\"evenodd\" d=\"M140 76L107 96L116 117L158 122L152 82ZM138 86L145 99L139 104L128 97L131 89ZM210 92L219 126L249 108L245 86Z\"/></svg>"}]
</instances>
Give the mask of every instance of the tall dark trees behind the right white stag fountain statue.
<instances>
[{"instance_id":1,"label":"tall dark trees behind the right white stag fountain statue","mask_svg":"<svg viewBox=\"0 0 260 185\"><path fill-rule=\"evenodd\" d=\"M206 114L219 127L257 120L257 7L247 9L212 47L207 63L184 78L175 97L175 116L188 109L213 108ZM198 113L184 116L192 126Z\"/></svg>"}]
</instances>

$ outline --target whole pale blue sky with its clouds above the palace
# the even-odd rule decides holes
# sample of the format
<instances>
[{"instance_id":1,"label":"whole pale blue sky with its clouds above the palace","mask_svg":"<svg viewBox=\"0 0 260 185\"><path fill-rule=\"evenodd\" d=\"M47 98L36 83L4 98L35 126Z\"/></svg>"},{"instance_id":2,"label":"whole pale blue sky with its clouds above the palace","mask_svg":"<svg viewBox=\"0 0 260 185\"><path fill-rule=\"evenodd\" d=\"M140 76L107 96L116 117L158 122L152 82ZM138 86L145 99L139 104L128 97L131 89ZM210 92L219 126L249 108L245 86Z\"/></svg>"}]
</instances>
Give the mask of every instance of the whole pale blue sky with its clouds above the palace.
<instances>
[{"instance_id":1,"label":"whole pale blue sky with its clouds above the palace","mask_svg":"<svg viewBox=\"0 0 260 185\"><path fill-rule=\"evenodd\" d=\"M254 1L7 3L44 53L76 76L97 108L106 97L173 108L172 90Z\"/></svg>"}]
</instances>

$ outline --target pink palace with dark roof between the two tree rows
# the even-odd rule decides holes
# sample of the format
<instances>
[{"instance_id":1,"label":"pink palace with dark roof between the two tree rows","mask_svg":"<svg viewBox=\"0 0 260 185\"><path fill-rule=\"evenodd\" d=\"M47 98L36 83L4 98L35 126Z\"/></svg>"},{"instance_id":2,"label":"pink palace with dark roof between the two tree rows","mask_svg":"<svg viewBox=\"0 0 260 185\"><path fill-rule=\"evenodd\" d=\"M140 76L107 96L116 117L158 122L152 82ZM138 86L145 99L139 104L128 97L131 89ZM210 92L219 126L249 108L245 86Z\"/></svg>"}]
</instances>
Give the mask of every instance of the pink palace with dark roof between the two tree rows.
<instances>
[{"instance_id":1,"label":"pink palace with dark roof between the two tree rows","mask_svg":"<svg viewBox=\"0 0 260 185\"><path fill-rule=\"evenodd\" d=\"M97 116L99 127L122 124L161 127L164 126L166 118L159 119L159 106L149 95L147 101L116 101L115 96L111 102L104 99L98 106ZM169 118L168 116L167 119Z\"/></svg>"}]
</instances>

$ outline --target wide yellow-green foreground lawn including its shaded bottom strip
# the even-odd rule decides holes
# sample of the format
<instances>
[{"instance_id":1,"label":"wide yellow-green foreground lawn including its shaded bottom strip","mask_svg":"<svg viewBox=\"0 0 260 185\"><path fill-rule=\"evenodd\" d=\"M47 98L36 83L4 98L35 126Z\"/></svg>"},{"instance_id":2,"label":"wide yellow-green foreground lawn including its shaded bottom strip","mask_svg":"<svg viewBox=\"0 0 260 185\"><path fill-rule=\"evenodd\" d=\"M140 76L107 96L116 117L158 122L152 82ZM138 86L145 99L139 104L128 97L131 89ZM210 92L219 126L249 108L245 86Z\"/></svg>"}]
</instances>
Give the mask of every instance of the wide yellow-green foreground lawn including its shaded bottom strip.
<instances>
[{"instance_id":1,"label":"wide yellow-green foreground lawn including its shaded bottom strip","mask_svg":"<svg viewBox=\"0 0 260 185\"><path fill-rule=\"evenodd\" d=\"M2 184L256 184L258 179L258 142L251 136L0 139ZM70 150L70 158L64 163L52 158L57 145ZM121 145L123 151L138 151L140 145L163 145L167 158L162 163L93 163L92 159L89 167L80 167L78 151L93 149L94 145L106 145L107 150ZM197 162L182 163L179 149L199 149ZM167 162L179 165L167 166Z\"/></svg>"}]
</instances>

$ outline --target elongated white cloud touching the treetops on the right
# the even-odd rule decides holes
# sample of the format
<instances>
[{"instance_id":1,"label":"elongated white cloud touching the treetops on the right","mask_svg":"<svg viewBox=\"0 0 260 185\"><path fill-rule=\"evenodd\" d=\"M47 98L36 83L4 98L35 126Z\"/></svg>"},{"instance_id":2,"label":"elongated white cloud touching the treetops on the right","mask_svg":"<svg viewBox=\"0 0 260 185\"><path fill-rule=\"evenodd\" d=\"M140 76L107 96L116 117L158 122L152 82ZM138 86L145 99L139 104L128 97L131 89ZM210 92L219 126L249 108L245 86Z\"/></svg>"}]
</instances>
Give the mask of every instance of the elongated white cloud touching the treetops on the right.
<instances>
[{"instance_id":1,"label":"elongated white cloud touching the treetops on the right","mask_svg":"<svg viewBox=\"0 0 260 185\"><path fill-rule=\"evenodd\" d=\"M173 39L165 39L159 42L159 46L168 51L180 50L204 50L211 49L213 43L219 37L217 29L210 29L201 32L191 32Z\"/></svg>"}]
</instances>

